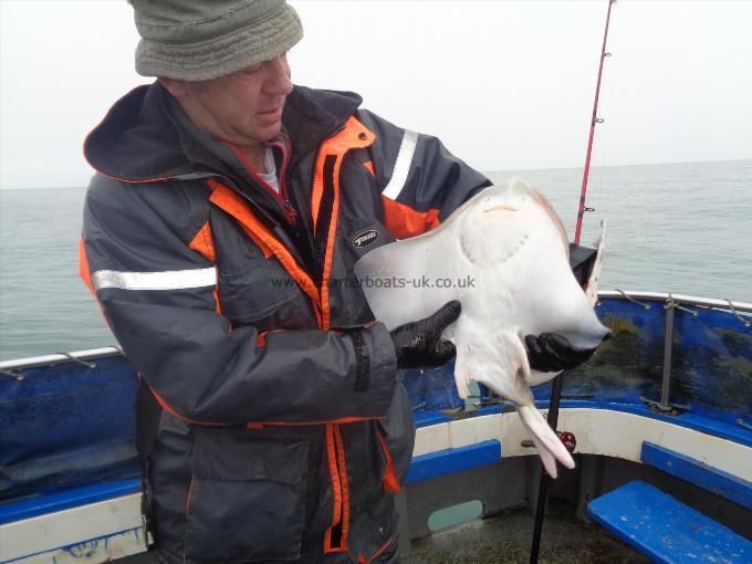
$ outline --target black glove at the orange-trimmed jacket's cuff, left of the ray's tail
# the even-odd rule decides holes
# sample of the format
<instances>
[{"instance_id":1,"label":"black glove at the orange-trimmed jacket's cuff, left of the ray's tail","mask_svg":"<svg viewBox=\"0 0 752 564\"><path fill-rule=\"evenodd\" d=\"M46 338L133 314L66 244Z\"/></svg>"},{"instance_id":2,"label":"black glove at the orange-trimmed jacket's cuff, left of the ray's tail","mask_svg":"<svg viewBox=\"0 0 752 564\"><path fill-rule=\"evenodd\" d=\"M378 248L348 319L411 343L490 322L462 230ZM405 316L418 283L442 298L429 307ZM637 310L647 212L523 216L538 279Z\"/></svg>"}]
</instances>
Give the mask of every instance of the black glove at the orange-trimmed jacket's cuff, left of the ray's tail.
<instances>
[{"instance_id":1,"label":"black glove at the orange-trimmed jacket's cuff, left of the ray's tail","mask_svg":"<svg viewBox=\"0 0 752 564\"><path fill-rule=\"evenodd\" d=\"M425 320L406 323L393 330L391 342L398 368L441 366L457 354L455 345L441 338L441 332L460 316L462 306L457 300L447 302Z\"/></svg>"}]
</instances>

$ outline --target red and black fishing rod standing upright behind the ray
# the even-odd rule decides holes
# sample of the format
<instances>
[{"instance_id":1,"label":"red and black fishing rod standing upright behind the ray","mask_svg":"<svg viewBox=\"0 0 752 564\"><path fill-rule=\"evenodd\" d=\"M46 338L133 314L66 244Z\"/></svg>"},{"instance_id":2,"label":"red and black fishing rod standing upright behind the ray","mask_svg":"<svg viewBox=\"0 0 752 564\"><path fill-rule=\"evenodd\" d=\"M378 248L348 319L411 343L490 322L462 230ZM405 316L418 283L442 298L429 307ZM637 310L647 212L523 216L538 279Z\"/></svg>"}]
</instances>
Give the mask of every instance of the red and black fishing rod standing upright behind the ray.
<instances>
[{"instance_id":1,"label":"red and black fishing rod standing upright behind the ray","mask_svg":"<svg viewBox=\"0 0 752 564\"><path fill-rule=\"evenodd\" d=\"M595 86L595 101L593 102L593 115L591 117L591 134L587 139L587 155L585 156L585 173L583 174L583 186L579 192L579 207L577 209L577 227L574 233L574 243L579 244L579 234L582 232L583 216L585 211L592 211L592 208L585 206L585 197L587 195L587 177L591 171L591 155L593 153L593 138L595 137L595 126L596 124L603 123L603 119L598 117L598 97L600 95L600 77L603 76L603 63L610 53L606 52L606 40L608 38L608 22L610 21L610 9L616 0L608 1L608 13L606 14L606 28L603 33L603 46L600 48L600 63L598 65L598 80ZM556 431L558 426L558 405L562 397L562 386L564 384L563 374L560 374L554 378L553 385L551 386L551 400L549 403L549 417L547 421L551 428ZM574 450L574 437L570 438L571 442L565 446L567 450ZM554 461L554 463L556 463ZM541 549L541 535L543 533L543 514L545 513L546 498L549 493L549 482L551 478L546 474L545 470L541 473L541 483L537 489L537 503L535 506L535 526L533 529L533 543L530 549L530 564L537 564L537 555Z\"/></svg>"}]
</instances>

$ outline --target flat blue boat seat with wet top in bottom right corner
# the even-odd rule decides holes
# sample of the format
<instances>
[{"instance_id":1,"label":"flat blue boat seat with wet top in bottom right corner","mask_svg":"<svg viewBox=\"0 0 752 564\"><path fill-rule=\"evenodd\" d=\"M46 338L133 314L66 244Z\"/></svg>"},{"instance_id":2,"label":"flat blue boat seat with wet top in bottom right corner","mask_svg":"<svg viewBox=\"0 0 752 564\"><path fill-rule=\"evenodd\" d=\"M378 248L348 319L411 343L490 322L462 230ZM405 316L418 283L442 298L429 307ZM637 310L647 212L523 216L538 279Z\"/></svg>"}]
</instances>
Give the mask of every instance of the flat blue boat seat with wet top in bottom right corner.
<instances>
[{"instance_id":1,"label":"flat blue boat seat with wet top in bottom right corner","mask_svg":"<svg viewBox=\"0 0 752 564\"><path fill-rule=\"evenodd\" d=\"M752 542L640 481L591 501L587 509L594 521L655 562L752 562Z\"/></svg>"}]
</instances>

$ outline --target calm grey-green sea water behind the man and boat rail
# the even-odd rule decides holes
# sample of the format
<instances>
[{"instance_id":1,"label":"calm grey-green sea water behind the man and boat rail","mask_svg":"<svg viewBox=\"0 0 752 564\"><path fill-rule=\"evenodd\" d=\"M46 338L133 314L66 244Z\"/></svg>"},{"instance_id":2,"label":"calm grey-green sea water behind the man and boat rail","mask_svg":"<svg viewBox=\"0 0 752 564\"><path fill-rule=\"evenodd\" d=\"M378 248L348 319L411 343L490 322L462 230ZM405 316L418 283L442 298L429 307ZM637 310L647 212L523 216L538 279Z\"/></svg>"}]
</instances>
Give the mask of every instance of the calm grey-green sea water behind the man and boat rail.
<instances>
[{"instance_id":1,"label":"calm grey-green sea water behind the man and boat rail","mask_svg":"<svg viewBox=\"0 0 752 564\"><path fill-rule=\"evenodd\" d=\"M581 168L518 175L574 234ZM127 188L126 188L127 189ZM84 188L0 190L0 359L115 344L79 278ZM583 243L608 223L602 290L752 302L752 160L594 168Z\"/></svg>"}]
</instances>

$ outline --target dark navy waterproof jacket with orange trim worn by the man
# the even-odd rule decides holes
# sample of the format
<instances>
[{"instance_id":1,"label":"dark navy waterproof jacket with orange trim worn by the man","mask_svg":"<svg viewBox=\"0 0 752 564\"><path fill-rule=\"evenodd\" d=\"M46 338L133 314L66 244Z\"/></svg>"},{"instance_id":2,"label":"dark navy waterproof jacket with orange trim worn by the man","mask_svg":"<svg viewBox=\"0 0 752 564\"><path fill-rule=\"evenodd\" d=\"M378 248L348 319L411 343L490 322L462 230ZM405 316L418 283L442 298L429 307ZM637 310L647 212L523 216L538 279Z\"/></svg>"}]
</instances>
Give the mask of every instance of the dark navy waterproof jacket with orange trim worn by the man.
<instances>
[{"instance_id":1,"label":"dark navy waterproof jacket with orange trim worn by the man","mask_svg":"<svg viewBox=\"0 0 752 564\"><path fill-rule=\"evenodd\" d=\"M415 429L353 265L489 182L359 103L295 86L268 144L279 195L158 82L86 139L81 274L161 407L147 497L166 562L396 554Z\"/></svg>"}]
</instances>

